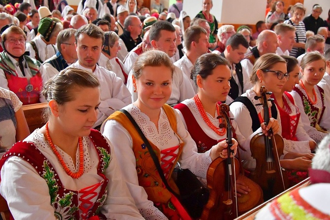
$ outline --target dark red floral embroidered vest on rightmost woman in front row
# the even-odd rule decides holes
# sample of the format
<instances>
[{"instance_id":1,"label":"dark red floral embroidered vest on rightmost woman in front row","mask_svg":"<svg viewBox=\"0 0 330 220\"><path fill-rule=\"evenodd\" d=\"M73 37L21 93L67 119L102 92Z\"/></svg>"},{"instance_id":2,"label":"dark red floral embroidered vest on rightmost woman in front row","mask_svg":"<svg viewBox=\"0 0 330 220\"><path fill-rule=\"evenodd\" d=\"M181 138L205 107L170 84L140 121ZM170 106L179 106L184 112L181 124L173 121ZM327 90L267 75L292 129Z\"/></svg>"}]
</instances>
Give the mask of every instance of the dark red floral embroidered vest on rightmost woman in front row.
<instances>
[{"instance_id":1,"label":"dark red floral embroidered vest on rightmost woman in front row","mask_svg":"<svg viewBox=\"0 0 330 220\"><path fill-rule=\"evenodd\" d=\"M304 111L307 114L310 122L310 126L316 128L319 126L320 121L322 119L322 115L326 107L324 106L324 90L317 85L317 88L320 91L321 97L322 97L322 109L316 108L313 106L313 104L309 101L308 97L305 96L302 91L298 88L295 87L294 91L296 91L302 101L302 105L304 106ZM322 128L324 131L327 131L326 129Z\"/></svg>"}]
</instances>

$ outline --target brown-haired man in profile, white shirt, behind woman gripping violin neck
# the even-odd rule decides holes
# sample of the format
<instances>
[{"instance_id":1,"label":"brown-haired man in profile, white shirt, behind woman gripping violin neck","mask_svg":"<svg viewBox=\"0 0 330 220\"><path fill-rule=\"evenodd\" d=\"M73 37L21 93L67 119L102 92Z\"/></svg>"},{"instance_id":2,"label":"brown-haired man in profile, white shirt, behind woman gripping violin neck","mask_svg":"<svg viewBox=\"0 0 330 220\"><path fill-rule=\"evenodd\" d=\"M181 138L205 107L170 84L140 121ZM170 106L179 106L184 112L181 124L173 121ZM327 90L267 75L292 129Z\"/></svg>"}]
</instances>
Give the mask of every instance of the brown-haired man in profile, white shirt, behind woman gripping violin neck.
<instances>
[{"instance_id":1,"label":"brown-haired man in profile, white shirt, behind woman gripping violin neck","mask_svg":"<svg viewBox=\"0 0 330 220\"><path fill-rule=\"evenodd\" d=\"M174 65L187 75L190 79L190 72L193 69L196 60L201 55L207 53L210 43L208 42L207 32L198 26L192 26L187 28L183 36L184 44L187 52L183 57L176 61ZM197 92L197 86L194 81L190 79L195 92Z\"/></svg>"}]
</instances>

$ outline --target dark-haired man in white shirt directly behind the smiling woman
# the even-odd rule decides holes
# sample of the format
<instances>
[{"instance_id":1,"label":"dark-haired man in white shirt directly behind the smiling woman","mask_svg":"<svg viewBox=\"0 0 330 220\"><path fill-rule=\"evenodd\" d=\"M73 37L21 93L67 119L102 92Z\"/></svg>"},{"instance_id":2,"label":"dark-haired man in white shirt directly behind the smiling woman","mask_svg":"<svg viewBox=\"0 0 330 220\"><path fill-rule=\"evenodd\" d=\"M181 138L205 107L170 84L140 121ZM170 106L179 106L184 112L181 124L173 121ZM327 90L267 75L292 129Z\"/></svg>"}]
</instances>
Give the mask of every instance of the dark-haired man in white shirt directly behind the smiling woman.
<instances>
[{"instance_id":1,"label":"dark-haired man in white shirt directly behind the smiling woman","mask_svg":"<svg viewBox=\"0 0 330 220\"><path fill-rule=\"evenodd\" d=\"M149 31L149 39L154 49L164 51L169 57L174 56L176 51L176 34L175 28L171 23L167 21L158 21L153 24ZM134 92L132 72L133 70L129 74L127 87L132 94L132 102L134 102L137 99L137 93ZM194 97L194 95L195 92L193 86L191 85L187 75L183 74L179 68L175 67L175 71L173 73L172 94L166 103L174 106L183 100Z\"/></svg>"}]
</instances>

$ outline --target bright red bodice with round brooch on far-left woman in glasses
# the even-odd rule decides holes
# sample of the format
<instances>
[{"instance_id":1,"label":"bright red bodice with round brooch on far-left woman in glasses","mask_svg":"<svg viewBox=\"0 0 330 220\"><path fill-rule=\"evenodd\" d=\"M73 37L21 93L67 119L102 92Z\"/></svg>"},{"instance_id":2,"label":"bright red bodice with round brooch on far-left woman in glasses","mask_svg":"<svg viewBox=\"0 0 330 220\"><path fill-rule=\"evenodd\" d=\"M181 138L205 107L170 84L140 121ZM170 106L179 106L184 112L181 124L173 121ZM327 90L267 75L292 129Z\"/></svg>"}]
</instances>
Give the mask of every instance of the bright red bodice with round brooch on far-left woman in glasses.
<instances>
[{"instance_id":1,"label":"bright red bodice with round brooch on far-left woman in glasses","mask_svg":"<svg viewBox=\"0 0 330 220\"><path fill-rule=\"evenodd\" d=\"M7 73L4 71L7 81L8 87L10 91L13 91L18 98L21 100L23 105L36 104L39 102L39 96L42 87L42 78L40 72L30 78L30 82L25 77L18 77ZM27 86L31 84L33 86L33 90L31 92L27 91Z\"/></svg>"}]
</instances>

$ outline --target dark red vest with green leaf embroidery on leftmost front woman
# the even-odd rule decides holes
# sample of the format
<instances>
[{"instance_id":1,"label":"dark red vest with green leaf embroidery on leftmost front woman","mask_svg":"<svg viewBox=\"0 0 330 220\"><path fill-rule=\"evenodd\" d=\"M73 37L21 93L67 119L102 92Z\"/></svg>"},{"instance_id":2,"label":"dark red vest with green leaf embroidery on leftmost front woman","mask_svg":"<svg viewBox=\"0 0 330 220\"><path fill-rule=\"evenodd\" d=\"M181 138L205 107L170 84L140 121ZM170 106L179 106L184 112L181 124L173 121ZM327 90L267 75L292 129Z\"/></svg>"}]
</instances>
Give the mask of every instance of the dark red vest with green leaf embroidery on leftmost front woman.
<instances>
[{"instance_id":1,"label":"dark red vest with green leaf embroidery on leftmost front woman","mask_svg":"<svg viewBox=\"0 0 330 220\"><path fill-rule=\"evenodd\" d=\"M98 175L102 177L102 185L99 196L88 213L88 218L93 216L99 219L106 219L101 213L100 208L107 197L107 183L109 180L104 175L105 169L110 162L110 147L104 137L97 130L91 129L89 138L99 154ZM64 188L57 173L48 159L32 143L17 142L0 160L0 169L10 156L18 156L30 163L36 172L42 177L49 188L50 204L54 208L54 215L57 219L76 220L79 216L78 191ZM96 218L98 219L98 218Z\"/></svg>"}]
</instances>

